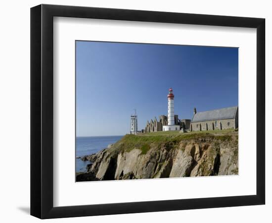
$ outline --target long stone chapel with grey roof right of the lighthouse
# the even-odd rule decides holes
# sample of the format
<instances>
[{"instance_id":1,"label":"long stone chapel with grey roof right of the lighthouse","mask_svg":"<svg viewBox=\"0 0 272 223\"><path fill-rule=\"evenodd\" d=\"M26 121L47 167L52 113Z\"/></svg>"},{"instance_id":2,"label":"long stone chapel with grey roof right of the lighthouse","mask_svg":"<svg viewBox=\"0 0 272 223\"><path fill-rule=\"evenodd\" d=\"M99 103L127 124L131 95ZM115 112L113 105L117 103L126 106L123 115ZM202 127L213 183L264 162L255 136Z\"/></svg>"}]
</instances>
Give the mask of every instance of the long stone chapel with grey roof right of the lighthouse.
<instances>
[{"instance_id":1,"label":"long stone chapel with grey roof right of the lighthouse","mask_svg":"<svg viewBox=\"0 0 272 223\"><path fill-rule=\"evenodd\" d=\"M236 129L238 127L238 107L229 107L213 111L196 112L191 120L191 131L206 131L217 129Z\"/></svg>"}]
</instances>

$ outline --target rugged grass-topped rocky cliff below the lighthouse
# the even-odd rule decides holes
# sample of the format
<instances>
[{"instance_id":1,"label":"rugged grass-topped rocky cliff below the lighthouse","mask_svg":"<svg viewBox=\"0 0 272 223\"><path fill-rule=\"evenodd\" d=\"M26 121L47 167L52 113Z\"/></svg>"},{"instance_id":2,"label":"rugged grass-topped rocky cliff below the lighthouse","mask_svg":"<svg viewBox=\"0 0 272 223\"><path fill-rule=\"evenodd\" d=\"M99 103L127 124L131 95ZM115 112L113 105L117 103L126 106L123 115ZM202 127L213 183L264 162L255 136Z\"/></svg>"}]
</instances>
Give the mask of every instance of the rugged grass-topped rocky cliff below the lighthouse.
<instances>
[{"instance_id":1,"label":"rugged grass-topped rocky cliff below the lighthouse","mask_svg":"<svg viewBox=\"0 0 272 223\"><path fill-rule=\"evenodd\" d=\"M238 174L238 134L126 135L86 159L96 180Z\"/></svg>"}]
</instances>

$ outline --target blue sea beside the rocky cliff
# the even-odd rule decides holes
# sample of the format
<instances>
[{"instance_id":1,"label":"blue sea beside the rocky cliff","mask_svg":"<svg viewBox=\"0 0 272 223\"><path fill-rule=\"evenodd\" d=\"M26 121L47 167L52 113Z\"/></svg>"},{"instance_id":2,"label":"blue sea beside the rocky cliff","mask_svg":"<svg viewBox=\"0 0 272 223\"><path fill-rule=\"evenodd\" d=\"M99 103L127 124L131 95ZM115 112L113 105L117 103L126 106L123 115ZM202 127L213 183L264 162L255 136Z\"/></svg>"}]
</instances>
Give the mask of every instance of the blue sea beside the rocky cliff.
<instances>
[{"instance_id":1,"label":"blue sea beside the rocky cliff","mask_svg":"<svg viewBox=\"0 0 272 223\"><path fill-rule=\"evenodd\" d=\"M116 143L122 137L123 136L76 137L76 157L97 153L100 150L107 148L109 144ZM88 164L91 164L91 162L76 159L76 172L85 172Z\"/></svg>"}]
</instances>

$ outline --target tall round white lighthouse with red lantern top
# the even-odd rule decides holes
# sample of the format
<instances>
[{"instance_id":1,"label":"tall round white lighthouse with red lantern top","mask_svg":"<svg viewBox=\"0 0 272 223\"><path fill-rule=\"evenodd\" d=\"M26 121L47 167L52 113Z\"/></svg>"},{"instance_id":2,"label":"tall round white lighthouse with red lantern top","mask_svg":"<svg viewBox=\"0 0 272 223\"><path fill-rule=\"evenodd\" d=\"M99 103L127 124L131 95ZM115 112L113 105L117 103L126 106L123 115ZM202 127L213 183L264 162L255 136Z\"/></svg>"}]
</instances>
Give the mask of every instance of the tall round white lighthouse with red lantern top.
<instances>
[{"instance_id":1,"label":"tall round white lighthouse with red lantern top","mask_svg":"<svg viewBox=\"0 0 272 223\"><path fill-rule=\"evenodd\" d=\"M163 126L163 131L175 131L180 130L180 125L175 125L175 114L174 114L174 94L173 89L169 89L168 98L168 125Z\"/></svg>"}]
</instances>

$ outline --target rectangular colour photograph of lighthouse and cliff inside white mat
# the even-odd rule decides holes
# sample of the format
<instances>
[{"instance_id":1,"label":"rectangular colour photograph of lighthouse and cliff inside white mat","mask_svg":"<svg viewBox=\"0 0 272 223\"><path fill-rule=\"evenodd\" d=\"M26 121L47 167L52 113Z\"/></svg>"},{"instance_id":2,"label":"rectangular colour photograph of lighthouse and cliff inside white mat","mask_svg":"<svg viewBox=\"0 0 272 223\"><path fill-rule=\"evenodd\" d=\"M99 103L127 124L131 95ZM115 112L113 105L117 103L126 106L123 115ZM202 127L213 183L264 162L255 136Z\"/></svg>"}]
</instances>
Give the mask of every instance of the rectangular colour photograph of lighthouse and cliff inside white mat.
<instances>
[{"instance_id":1,"label":"rectangular colour photograph of lighthouse and cliff inside white mat","mask_svg":"<svg viewBox=\"0 0 272 223\"><path fill-rule=\"evenodd\" d=\"M238 175L238 50L76 40L76 182Z\"/></svg>"}]
</instances>

